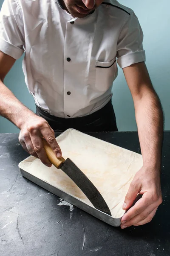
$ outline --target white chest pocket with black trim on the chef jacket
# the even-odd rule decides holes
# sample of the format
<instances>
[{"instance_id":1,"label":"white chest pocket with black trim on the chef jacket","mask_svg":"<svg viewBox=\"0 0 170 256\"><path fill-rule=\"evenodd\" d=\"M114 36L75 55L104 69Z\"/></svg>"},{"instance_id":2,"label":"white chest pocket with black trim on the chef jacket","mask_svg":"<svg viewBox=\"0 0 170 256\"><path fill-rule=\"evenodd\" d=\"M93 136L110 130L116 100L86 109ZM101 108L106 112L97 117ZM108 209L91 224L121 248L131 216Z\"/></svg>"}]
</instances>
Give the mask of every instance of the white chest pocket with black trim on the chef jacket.
<instances>
[{"instance_id":1,"label":"white chest pocket with black trim on the chef jacket","mask_svg":"<svg viewBox=\"0 0 170 256\"><path fill-rule=\"evenodd\" d=\"M96 61L95 87L100 91L108 90L117 76L116 58L110 62Z\"/></svg>"}]
</instances>

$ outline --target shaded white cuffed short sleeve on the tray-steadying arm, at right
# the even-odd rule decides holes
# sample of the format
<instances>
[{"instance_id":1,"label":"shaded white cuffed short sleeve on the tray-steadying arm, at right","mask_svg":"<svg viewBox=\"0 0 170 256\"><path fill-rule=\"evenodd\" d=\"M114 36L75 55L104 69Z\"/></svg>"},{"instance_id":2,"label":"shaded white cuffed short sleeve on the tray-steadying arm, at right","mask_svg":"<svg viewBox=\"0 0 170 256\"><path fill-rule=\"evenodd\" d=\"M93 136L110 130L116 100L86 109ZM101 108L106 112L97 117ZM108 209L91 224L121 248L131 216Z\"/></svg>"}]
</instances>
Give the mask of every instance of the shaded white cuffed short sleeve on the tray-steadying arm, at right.
<instances>
[{"instance_id":1,"label":"shaded white cuffed short sleeve on the tray-steadying arm, at right","mask_svg":"<svg viewBox=\"0 0 170 256\"><path fill-rule=\"evenodd\" d=\"M146 60L142 43L142 28L132 12L122 27L117 43L117 63L121 68Z\"/></svg>"}]
</instances>

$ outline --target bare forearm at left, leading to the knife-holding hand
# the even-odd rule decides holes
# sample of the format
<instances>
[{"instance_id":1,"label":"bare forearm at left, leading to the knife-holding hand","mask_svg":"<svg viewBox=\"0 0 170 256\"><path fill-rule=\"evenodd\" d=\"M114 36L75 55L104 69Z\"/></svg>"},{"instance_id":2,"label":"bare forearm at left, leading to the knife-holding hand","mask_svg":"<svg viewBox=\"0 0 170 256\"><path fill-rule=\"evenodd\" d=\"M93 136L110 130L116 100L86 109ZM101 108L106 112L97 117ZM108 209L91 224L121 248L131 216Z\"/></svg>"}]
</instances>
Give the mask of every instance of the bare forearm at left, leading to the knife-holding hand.
<instances>
[{"instance_id":1,"label":"bare forearm at left, leading to the knife-holding hand","mask_svg":"<svg viewBox=\"0 0 170 256\"><path fill-rule=\"evenodd\" d=\"M21 129L24 121L34 113L26 108L0 80L0 115Z\"/></svg>"}]
</instances>

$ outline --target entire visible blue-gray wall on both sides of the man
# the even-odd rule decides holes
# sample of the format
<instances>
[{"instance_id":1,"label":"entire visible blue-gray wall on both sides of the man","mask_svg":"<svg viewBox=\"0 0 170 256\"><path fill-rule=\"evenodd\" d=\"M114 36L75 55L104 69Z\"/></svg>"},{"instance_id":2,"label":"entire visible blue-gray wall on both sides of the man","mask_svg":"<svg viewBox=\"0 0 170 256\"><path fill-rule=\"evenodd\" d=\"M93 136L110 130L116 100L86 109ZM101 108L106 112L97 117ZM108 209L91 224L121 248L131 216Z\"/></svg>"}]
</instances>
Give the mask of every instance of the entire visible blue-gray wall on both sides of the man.
<instances>
[{"instance_id":1,"label":"entire visible blue-gray wall on both sides of the man","mask_svg":"<svg viewBox=\"0 0 170 256\"><path fill-rule=\"evenodd\" d=\"M170 130L170 0L119 0L134 10L144 32L144 49L147 68L158 93L165 114L165 130ZM0 0L0 7L3 0ZM22 72L22 58L14 64L5 84L28 108L35 111L34 99L28 93ZM134 107L123 72L113 86L113 106L119 131L136 131ZM0 117L0 132L19 130L8 120Z\"/></svg>"}]
</instances>

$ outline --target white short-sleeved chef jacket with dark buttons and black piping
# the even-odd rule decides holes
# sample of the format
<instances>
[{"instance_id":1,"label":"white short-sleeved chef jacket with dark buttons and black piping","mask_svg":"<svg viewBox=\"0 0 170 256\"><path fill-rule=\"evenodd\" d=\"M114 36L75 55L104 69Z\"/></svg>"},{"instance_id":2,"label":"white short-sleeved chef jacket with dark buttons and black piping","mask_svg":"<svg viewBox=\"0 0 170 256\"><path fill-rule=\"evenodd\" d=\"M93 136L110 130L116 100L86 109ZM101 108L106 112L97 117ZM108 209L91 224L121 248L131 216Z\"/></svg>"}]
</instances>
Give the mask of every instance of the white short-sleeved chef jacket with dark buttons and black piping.
<instances>
[{"instance_id":1,"label":"white short-sleeved chef jacket with dark buttons and black piping","mask_svg":"<svg viewBox=\"0 0 170 256\"><path fill-rule=\"evenodd\" d=\"M145 61L143 33L134 12L116 0L84 18L56 0L5 0L0 50L15 59L35 103L51 115L85 116L105 106L121 68Z\"/></svg>"}]
</instances>

